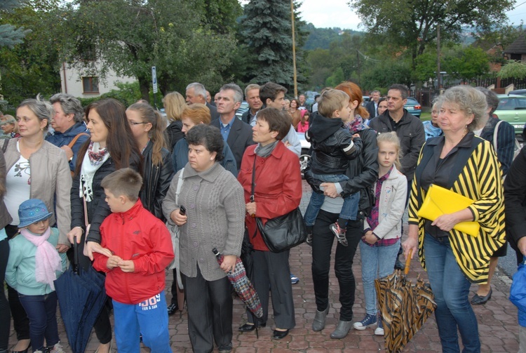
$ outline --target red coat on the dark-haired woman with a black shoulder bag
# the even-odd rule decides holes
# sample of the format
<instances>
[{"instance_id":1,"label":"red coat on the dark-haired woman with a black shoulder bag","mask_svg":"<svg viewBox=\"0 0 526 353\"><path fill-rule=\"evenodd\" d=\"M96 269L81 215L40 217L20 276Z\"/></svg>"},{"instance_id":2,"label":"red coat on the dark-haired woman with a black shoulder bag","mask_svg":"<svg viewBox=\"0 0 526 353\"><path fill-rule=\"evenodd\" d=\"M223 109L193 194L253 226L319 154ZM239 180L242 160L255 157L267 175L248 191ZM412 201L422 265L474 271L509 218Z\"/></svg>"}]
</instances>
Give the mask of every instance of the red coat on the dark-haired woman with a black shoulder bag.
<instances>
[{"instance_id":1,"label":"red coat on the dark-haired woman with a black shoulder bag","mask_svg":"<svg viewBox=\"0 0 526 353\"><path fill-rule=\"evenodd\" d=\"M285 215L299 206L302 199L302 174L299 171L299 159L283 142L278 142L270 156L262 158L254 152L256 146L249 146L243 154L238 181L245 192L245 202L250 202L252 190L252 168L256 159L256 178L254 199L256 217L263 223L269 218ZM245 218L250 242L255 250L269 251L261 234L256 231L256 221L247 214Z\"/></svg>"}]
</instances>

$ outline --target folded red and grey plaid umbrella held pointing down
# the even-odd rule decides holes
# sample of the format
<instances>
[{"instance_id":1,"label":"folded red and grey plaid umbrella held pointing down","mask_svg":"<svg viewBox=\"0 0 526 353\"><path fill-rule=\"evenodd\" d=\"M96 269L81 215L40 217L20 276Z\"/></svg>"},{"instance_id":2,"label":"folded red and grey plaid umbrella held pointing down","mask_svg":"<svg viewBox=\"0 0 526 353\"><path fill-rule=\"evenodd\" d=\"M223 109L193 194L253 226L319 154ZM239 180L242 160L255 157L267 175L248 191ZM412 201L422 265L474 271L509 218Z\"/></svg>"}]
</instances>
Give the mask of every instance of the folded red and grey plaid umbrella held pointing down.
<instances>
[{"instance_id":1,"label":"folded red and grey plaid umbrella held pointing down","mask_svg":"<svg viewBox=\"0 0 526 353\"><path fill-rule=\"evenodd\" d=\"M221 265L223 263L223 255L217 251L217 248L213 248L212 251L217 258L217 262ZM240 258L237 258L234 270L229 272L227 276L232 286L234 286L238 297L243 300L250 312L252 312L255 317L262 317L263 308L261 307L259 296L257 296L254 286L252 286L250 279L248 279L245 267Z\"/></svg>"}]
</instances>

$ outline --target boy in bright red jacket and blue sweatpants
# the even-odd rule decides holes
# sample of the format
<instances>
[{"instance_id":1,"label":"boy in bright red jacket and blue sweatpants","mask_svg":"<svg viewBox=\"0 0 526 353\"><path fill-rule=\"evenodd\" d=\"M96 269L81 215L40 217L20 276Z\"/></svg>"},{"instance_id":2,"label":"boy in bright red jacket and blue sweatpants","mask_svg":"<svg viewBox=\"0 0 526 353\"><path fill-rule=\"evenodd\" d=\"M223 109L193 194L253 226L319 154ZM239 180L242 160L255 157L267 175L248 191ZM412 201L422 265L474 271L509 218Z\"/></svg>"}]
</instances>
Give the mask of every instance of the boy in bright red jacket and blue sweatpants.
<instances>
[{"instance_id":1,"label":"boy in bright red jacket and blue sweatpants","mask_svg":"<svg viewBox=\"0 0 526 353\"><path fill-rule=\"evenodd\" d=\"M94 253L93 267L107 273L106 292L113 299L115 339L120 353L138 353L140 335L152 353L172 352L164 295L164 269L173 260L170 233L142 207L142 177L130 168L107 175L101 183L112 214L100 226L101 246L109 258Z\"/></svg>"}]
</instances>

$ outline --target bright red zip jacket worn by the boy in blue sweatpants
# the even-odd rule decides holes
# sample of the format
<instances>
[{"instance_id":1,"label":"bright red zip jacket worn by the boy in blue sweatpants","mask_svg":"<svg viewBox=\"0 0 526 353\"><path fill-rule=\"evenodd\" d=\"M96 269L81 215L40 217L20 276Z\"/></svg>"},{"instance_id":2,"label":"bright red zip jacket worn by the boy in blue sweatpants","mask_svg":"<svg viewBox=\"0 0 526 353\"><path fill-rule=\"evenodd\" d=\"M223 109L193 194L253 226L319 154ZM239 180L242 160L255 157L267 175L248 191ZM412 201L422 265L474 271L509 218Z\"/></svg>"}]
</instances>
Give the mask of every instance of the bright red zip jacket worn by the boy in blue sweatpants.
<instances>
[{"instance_id":1,"label":"bright red zip jacket worn by the boy in blue sweatpants","mask_svg":"<svg viewBox=\"0 0 526 353\"><path fill-rule=\"evenodd\" d=\"M107 257L93 253L93 267L107 272L106 292L124 304L137 304L161 293L164 270L173 260L170 232L161 220L142 207L141 201L123 213L110 214L100 225L101 243L123 260L133 260L135 271L108 269Z\"/></svg>"}]
</instances>

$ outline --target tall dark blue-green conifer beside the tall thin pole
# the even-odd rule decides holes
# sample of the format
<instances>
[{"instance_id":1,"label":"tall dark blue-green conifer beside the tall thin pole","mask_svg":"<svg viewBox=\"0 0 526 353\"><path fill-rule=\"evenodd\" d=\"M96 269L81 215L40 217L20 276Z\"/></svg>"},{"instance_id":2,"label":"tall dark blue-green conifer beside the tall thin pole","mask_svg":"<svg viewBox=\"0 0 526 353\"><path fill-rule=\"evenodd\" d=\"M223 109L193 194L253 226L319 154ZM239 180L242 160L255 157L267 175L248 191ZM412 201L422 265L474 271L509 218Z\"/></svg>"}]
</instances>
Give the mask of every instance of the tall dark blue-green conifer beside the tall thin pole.
<instances>
[{"instance_id":1,"label":"tall dark blue-green conifer beside the tall thin pole","mask_svg":"<svg viewBox=\"0 0 526 353\"><path fill-rule=\"evenodd\" d=\"M251 0L244 8L243 41L250 56L250 81L293 86L290 2Z\"/></svg>"}]
</instances>

